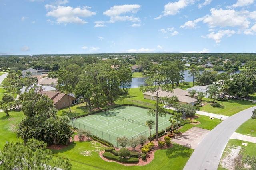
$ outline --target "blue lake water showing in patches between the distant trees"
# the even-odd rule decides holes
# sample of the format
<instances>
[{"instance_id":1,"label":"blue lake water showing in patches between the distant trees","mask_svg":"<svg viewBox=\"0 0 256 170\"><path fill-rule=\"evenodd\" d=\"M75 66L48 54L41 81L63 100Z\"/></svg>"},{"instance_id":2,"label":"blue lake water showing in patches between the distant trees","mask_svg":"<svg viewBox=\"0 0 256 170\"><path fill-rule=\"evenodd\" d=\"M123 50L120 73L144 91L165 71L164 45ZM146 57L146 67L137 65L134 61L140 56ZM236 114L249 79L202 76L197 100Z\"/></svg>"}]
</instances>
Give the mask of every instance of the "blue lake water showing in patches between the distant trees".
<instances>
[{"instance_id":1,"label":"blue lake water showing in patches between the distant trees","mask_svg":"<svg viewBox=\"0 0 256 170\"><path fill-rule=\"evenodd\" d=\"M185 82L193 82L193 77L189 77L190 75L188 74L188 71L189 70L185 70L184 71L184 81ZM200 74L203 72L203 71L199 71ZM226 72L226 71L218 71L218 73L222 73L222 72ZM236 73L239 73L240 70L236 71ZM140 87L141 85L146 85L145 83L145 79L147 77L136 77L136 78L132 78L132 84L131 84L131 87L130 88L138 88Z\"/></svg>"}]
</instances>

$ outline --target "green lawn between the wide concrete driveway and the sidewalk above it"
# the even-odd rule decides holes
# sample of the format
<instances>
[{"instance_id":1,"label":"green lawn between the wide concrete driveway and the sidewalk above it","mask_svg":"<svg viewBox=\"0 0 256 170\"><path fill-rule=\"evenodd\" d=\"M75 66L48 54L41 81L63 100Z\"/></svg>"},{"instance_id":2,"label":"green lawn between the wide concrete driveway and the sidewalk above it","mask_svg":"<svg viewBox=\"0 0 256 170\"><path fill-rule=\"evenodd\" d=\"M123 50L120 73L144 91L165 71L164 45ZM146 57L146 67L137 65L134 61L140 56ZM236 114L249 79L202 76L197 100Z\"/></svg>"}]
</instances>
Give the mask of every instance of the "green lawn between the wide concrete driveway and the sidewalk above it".
<instances>
[{"instance_id":1,"label":"green lawn between the wide concrete driveway and the sidewalk above it","mask_svg":"<svg viewBox=\"0 0 256 170\"><path fill-rule=\"evenodd\" d=\"M200 117L194 118L195 120L199 121L199 124L192 125L192 124L185 124L180 131L185 132L188 129L192 127L200 127L207 130L212 130L214 127L216 127L222 120L220 119L209 119L209 116L199 115Z\"/></svg>"}]
</instances>

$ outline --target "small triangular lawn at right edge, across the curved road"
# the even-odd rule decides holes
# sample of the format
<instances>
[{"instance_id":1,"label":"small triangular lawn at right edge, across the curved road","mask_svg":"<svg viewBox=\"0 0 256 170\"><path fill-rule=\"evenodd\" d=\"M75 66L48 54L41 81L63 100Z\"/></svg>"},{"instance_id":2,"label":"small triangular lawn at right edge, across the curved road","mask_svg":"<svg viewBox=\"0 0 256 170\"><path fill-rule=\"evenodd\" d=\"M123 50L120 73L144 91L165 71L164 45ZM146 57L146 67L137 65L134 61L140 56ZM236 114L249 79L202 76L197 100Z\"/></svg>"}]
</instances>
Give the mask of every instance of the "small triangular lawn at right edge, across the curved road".
<instances>
[{"instance_id":1,"label":"small triangular lawn at right edge, across the curved road","mask_svg":"<svg viewBox=\"0 0 256 170\"><path fill-rule=\"evenodd\" d=\"M250 134L248 136L256 137L255 123L255 119L249 119L248 121L244 122L240 127L238 127L238 129L236 129L236 132L243 135ZM251 130L253 130L253 132Z\"/></svg>"}]
</instances>

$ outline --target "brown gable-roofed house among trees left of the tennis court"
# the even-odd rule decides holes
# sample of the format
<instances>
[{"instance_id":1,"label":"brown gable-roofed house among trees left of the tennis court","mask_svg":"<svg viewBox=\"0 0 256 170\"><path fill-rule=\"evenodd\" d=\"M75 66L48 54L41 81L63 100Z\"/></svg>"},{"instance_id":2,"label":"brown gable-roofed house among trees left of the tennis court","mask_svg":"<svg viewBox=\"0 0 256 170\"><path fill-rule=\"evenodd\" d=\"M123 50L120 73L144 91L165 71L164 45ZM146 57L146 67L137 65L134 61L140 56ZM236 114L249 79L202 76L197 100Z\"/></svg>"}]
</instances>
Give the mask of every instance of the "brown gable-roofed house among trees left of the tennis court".
<instances>
[{"instance_id":1,"label":"brown gable-roofed house among trees left of the tennis court","mask_svg":"<svg viewBox=\"0 0 256 170\"><path fill-rule=\"evenodd\" d=\"M53 106L56 109L67 107L68 102L70 105L76 104L76 98L74 97L73 94L69 94L69 101L68 101L68 94L66 93L42 91L42 94L48 96L50 99L53 100Z\"/></svg>"}]
</instances>

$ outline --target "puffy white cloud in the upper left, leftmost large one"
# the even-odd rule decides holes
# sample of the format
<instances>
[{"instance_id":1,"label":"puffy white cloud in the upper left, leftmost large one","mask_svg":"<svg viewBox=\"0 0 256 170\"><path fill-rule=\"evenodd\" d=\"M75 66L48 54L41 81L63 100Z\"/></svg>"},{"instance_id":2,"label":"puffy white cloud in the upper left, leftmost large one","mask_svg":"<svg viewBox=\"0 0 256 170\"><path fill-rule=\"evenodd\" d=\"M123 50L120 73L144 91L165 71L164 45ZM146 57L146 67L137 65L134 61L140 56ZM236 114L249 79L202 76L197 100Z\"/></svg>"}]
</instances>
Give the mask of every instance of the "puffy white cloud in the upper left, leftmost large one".
<instances>
[{"instance_id":1,"label":"puffy white cloud in the upper left, leftmost large one","mask_svg":"<svg viewBox=\"0 0 256 170\"><path fill-rule=\"evenodd\" d=\"M54 5L45 5L46 10L50 10L47 12L46 16L56 18L57 23L76 23L78 25L82 25L87 23L82 20L80 17L90 17L95 15L96 12L92 12L88 10L90 7L84 6L83 8L76 7L73 8L71 6L54 6Z\"/></svg>"}]
</instances>

